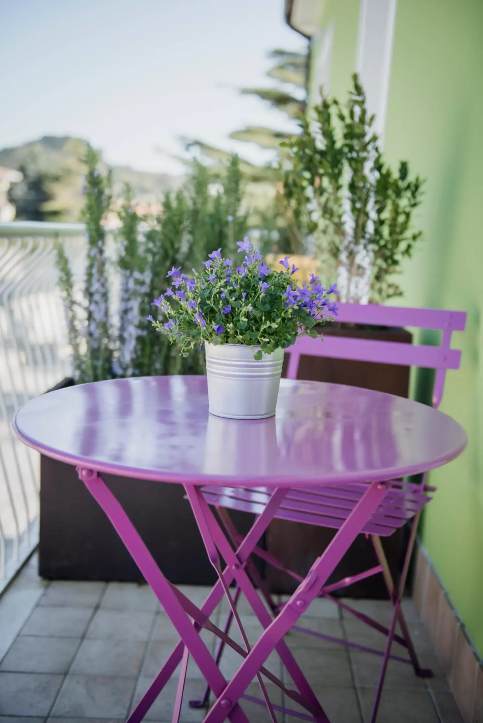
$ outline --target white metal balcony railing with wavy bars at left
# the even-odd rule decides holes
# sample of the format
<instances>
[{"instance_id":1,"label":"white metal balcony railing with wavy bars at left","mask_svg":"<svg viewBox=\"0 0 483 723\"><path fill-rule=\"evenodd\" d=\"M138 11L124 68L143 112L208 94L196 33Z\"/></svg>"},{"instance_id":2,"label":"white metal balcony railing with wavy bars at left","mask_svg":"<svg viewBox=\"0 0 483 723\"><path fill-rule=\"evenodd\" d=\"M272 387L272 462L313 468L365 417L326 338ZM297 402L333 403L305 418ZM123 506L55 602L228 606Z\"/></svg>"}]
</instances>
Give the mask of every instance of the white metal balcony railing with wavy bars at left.
<instances>
[{"instance_id":1,"label":"white metal balcony railing with wavy bars at left","mask_svg":"<svg viewBox=\"0 0 483 723\"><path fill-rule=\"evenodd\" d=\"M0 223L0 592L38 542L38 454L18 442L10 419L71 373L55 239L81 278L82 223Z\"/></svg>"}]
</instances>

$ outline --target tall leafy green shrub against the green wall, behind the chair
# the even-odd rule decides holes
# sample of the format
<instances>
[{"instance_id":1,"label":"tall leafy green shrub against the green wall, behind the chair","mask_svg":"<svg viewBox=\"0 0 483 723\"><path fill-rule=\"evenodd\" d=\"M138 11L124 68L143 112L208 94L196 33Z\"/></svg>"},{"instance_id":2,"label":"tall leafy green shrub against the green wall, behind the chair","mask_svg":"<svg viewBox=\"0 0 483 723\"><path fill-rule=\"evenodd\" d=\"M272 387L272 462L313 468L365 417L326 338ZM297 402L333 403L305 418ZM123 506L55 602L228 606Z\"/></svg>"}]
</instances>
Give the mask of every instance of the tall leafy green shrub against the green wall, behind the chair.
<instances>
[{"instance_id":1,"label":"tall leafy green shrub against the green wall, behind the chair","mask_svg":"<svg viewBox=\"0 0 483 723\"><path fill-rule=\"evenodd\" d=\"M421 231L411 227L423 181L408 163L393 171L379 150L374 116L366 109L356 74L348 101L322 96L301 133L285 144L285 198L303 233L332 277L339 270L344 301L373 301L401 294L394 281Z\"/></svg>"}]
</instances>

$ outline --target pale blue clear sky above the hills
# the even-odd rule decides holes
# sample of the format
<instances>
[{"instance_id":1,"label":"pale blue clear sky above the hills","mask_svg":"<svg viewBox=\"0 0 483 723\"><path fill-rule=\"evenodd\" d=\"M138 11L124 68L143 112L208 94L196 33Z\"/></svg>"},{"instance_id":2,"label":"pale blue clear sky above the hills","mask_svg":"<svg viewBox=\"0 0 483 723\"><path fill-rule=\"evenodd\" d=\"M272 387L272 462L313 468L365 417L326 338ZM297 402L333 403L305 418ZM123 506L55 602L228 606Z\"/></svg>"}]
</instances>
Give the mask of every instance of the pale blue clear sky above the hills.
<instances>
[{"instance_id":1,"label":"pale blue clear sky above the hills","mask_svg":"<svg viewBox=\"0 0 483 723\"><path fill-rule=\"evenodd\" d=\"M0 0L0 148L73 135L108 163L182 172L180 136L230 141L290 123L238 87L270 87L272 48L303 50L283 0Z\"/></svg>"}]
</instances>

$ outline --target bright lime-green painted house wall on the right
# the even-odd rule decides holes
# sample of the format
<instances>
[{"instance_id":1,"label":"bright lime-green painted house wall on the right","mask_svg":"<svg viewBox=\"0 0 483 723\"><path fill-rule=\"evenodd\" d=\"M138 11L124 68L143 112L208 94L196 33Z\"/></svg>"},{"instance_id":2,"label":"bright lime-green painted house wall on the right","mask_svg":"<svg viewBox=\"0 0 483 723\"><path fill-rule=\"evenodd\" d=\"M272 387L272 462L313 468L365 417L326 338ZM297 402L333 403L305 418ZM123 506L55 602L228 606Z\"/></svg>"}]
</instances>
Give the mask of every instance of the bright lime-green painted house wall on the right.
<instances>
[{"instance_id":1,"label":"bright lime-green painted house wall on the right","mask_svg":"<svg viewBox=\"0 0 483 723\"><path fill-rule=\"evenodd\" d=\"M329 0L335 22L331 90L345 96L356 56L358 2ZM350 16L350 17L349 17ZM483 654L483 2L399 0L385 152L427 179L417 222L424 231L403 273L400 304L463 309L463 351L449 372L442 411L469 433L461 458L434 471L423 544ZM317 49L314 48L314 56Z\"/></svg>"}]
</instances>

